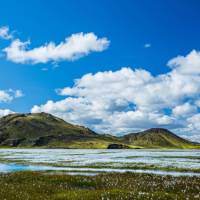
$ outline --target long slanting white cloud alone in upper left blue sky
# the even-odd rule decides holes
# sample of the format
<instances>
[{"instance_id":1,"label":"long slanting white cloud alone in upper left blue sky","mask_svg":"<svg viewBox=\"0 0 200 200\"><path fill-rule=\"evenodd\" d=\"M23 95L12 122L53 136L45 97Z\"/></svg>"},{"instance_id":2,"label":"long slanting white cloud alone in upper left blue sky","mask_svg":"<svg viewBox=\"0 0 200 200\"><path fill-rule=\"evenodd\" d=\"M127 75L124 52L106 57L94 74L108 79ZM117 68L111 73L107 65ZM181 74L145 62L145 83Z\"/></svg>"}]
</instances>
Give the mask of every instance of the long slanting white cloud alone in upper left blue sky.
<instances>
[{"instance_id":1,"label":"long slanting white cloud alone in upper left blue sky","mask_svg":"<svg viewBox=\"0 0 200 200\"><path fill-rule=\"evenodd\" d=\"M101 52L109 46L107 38L98 38L94 33L77 33L56 45L54 42L28 49L30 41L12 41L4 49L7 59L15 63L47 63L49 61L76 60L91 52Z\"/></svg>"}]
</instances>

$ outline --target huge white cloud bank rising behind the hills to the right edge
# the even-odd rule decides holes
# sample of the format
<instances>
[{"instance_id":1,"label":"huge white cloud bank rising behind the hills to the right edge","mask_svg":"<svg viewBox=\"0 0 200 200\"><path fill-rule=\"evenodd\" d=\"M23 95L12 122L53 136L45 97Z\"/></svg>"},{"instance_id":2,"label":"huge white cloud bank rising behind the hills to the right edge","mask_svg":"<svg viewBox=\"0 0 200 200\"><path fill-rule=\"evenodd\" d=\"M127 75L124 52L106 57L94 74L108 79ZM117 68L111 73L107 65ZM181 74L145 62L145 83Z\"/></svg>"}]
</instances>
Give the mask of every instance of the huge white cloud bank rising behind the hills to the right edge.
<instances>
[{"instance_id":1,"label":"huge white cloud bank rising behind the hills to the right edge","mask_svg":"<svg viewBox=\"0 0 200 200\"><path fill-rule=\"evenodd\" d=\"M56 90L66 96L63 100L35 105L31 111L115 135L165 127L200 139L200 53L178 56L168 65L171 70L157 76L131 68L86 74L73 87Z\"/></svg>"}]
</instances>

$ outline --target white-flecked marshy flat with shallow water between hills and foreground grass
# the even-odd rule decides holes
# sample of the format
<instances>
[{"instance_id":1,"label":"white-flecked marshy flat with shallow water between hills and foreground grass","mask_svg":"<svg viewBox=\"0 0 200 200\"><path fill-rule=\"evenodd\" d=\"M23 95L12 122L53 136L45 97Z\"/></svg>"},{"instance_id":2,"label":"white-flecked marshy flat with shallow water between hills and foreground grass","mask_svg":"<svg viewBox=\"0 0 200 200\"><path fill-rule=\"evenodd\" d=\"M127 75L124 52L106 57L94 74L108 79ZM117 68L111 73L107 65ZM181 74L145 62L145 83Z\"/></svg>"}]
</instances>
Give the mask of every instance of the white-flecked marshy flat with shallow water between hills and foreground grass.
<instances>
[{"instance_id":1,"label":"white-flecked marshy flat with shallow water between hills and foreground grass","mask_svg":"<svg viewBox=\"0 0 200 200\"><path fill-rule=\"evenodd\" d=\"M0 172L200 176L200 150L0 149Z\"/></svg>"}]
</instances>

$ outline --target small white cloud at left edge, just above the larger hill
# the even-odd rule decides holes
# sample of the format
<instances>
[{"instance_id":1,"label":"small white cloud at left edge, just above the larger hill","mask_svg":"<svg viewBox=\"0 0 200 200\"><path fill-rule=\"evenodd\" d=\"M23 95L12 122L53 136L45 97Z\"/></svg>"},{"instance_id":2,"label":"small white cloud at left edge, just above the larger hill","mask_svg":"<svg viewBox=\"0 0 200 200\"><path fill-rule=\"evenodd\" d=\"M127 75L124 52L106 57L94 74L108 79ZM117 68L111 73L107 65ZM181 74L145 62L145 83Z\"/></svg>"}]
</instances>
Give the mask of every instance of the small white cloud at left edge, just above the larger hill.
<instances>
[{"instance_id":1,"label":"small white cloud at left edge, just above the larger hill","mask_svg":"<svg viewBox=\"0 0 200 200\"><path fill-rule=\"evenodd\" d=\"M0 90L0 103L12 101L14 98L22 97L23 93L21 90Z\"/></svg>"}]
</instances>

